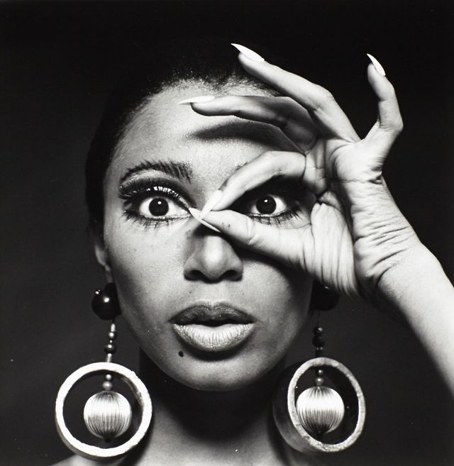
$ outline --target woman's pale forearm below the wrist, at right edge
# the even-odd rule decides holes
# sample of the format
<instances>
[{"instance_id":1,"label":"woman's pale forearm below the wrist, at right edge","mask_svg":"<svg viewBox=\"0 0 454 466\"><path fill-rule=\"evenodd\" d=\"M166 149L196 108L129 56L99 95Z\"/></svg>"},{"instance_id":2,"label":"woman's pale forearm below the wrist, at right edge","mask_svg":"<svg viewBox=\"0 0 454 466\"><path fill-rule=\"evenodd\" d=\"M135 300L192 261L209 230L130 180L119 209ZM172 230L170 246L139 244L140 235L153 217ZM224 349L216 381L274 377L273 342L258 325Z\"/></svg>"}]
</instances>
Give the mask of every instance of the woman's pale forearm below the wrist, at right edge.
<instances>
[{"instance_id":1,"label":"woman's pale forearm below the wrist, at right edge","mask_svg":"<svg viewBox=\"0 0 454 466\"><path fill-rule=\"evenodd\" d=\"M378 306L404 316L454 395L454 288L423 245L380 279Z\"/></svg>"}]
</instances>

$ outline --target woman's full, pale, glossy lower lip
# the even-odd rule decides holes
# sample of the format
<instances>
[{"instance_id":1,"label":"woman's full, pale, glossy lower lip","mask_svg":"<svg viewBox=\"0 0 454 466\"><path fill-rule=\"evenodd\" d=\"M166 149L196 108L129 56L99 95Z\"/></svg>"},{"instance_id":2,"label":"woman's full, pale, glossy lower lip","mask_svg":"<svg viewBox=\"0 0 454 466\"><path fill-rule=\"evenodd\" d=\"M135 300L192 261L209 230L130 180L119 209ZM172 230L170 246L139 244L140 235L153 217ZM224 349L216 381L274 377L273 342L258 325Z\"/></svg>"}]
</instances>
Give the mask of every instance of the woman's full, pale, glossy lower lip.
<instances>
[{"instance_id":1,"label":"woman's full, pale, glossy lower lip","mask_svg":"<svg viewBox=\"0 0 454 466\"><path fill-rule=\"evenodd\" d=\"M252 323L226 323L218 327L189 323L173 324L175 333L185 343L197 350L216 353L227 351L243 343L253 331Z\"/></svg>"}]
</instances>

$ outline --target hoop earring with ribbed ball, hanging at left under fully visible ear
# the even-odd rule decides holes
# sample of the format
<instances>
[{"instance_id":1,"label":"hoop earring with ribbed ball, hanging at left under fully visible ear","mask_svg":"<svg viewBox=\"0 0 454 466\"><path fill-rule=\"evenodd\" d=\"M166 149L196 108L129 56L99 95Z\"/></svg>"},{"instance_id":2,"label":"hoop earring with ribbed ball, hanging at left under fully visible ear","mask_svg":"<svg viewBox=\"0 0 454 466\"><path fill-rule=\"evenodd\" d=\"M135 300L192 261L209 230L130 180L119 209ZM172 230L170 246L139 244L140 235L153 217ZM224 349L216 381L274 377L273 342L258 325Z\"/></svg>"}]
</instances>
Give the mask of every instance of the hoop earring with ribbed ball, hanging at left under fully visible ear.
<instances>
[{"instance_id":1,"label":"hoop earring with ribbed ball, hanging at left under fully visible ear","mask_svg":"<svg viewBox=\"0 0 454 466\"><path fill-rule=\"evenodd\" d=\"M113 283L107 284L104 290L96 290L92 300L92 308L100 318L112 320L108 333L109 340L104 346L106 361L94 362L80 367L70 377L67 377L60 387L55 401L55 423L60 438L70 450L90 460L99 460L100 458L106 459L124 455L138 445L148 431L153 408L148 390L137 375L132 370L112 362L113 355L116 352L114 340L117 336L114 319L121 313L116 288ZM128 385L141 410L140 424L137 431L126 443L113 448L100 448L77 440L67 428L63 416L65 399L70 390L82 380L96 374L104 374L103 391L91 396L84 407L85 425L94 436L110 441L112 438L125 433L131 425L131 405L123 395L112 390L114 375Z\"/></svg>"}]
</instances>

